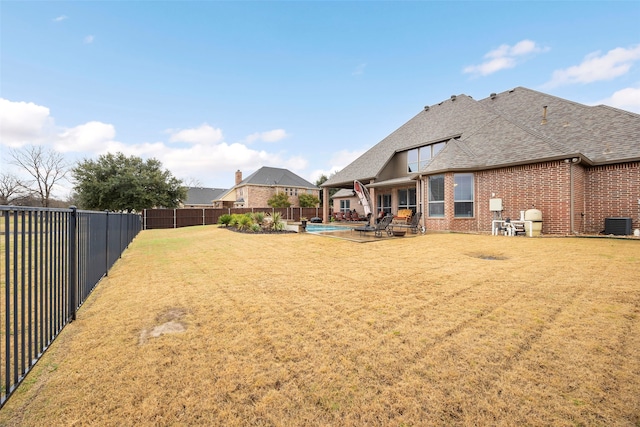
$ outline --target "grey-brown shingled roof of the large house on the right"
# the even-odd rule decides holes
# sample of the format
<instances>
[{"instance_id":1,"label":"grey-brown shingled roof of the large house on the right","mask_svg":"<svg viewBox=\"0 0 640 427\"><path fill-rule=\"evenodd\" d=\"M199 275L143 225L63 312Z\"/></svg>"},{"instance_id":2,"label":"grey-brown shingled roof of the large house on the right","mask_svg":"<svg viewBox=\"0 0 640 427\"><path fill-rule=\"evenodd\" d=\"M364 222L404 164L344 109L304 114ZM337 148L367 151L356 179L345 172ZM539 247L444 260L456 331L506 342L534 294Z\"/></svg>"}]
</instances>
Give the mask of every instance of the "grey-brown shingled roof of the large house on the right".
<instances>
[{"instance_id":1,"label":"grey-brown shingled roof of the large house on the right","mask_svg":"<svg viewBox=\"0 0 640 427\"><path fill-rule=\"evenodd\" d=\"M587 164L640 160L640 115L586 106L531 89L476 101L452 96L373 146L323 187L376 179L395 153L433 142L447 145L421 173L482 170L580 156Z\"/></svg>"}]
</instances>

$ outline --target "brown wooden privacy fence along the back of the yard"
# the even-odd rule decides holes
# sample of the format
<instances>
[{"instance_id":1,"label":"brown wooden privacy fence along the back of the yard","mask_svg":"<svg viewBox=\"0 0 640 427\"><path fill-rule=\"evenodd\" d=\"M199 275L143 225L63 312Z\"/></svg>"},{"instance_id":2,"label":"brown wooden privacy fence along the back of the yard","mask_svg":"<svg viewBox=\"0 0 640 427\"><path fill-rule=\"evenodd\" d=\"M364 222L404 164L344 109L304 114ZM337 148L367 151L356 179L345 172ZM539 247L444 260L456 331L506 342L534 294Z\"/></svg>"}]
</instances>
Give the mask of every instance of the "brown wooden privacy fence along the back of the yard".
<instances>
[{"instance_id":1,"label":"brown wooden privacy fence along the back of the yard","mask_svg":"<svg viewBox=\"0 0 640 427\"><path fill-rule=\"evenodd\" d=\"M154 228L179 228L194 225L217 224L224 214L243 214L247 212L280 212L287 221L300 221L300 218L322 218L322 208L184 208L184 209L145 209L142 224L145 230Z\"/></svg>"}]
</instances>

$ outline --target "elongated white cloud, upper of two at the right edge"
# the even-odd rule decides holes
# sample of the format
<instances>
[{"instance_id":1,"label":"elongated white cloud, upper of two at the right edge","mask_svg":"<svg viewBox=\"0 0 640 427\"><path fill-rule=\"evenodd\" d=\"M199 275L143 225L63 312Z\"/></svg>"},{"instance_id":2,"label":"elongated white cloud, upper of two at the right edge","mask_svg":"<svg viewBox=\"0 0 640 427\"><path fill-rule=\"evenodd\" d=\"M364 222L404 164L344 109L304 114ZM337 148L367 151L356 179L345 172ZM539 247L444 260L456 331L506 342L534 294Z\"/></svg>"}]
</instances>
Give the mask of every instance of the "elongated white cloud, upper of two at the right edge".
<instances>
[{"instance_id":1,"label":"elongated white cloud, upper of two at the right edge","mask_svg":"<svg viewBox=\"0 0 640 427\"><path fill-rule=\"evenodd\" d=\"M585 56L579 65L556 70L545 87L556 87L574 83L592 83L612 80L629 72L640 60L640 45L628 49L617 47L602 54L600 51Z\"/></svg>"}]
</instances>

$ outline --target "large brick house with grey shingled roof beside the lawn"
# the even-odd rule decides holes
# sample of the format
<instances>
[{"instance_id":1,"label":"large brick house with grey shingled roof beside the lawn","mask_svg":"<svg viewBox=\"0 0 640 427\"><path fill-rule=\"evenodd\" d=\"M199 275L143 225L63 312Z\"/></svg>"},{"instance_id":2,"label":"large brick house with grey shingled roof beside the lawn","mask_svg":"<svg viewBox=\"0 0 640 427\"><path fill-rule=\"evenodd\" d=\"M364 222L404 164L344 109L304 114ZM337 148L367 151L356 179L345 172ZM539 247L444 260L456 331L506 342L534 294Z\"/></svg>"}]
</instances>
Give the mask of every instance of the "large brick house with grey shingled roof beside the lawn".
<instances>
[{"instance_id":1,"label":"large brick house with grey shingled roof beside the lawn","mask_svg":"<svg viewBox=\"0 0 640 427\"><path fill-rule=\"evenodd\" d=\"M452 96L323 183L325 200L354 179L374 211L421 211L428 230L490 232L493 219L534 207L543 234L596 234L608 217L638 228L640 115L523 87L480 101Z\"/></svg>"}]
</instances>

